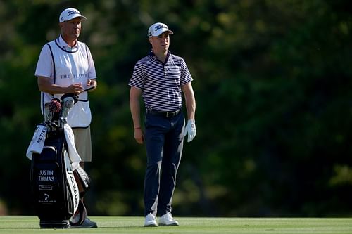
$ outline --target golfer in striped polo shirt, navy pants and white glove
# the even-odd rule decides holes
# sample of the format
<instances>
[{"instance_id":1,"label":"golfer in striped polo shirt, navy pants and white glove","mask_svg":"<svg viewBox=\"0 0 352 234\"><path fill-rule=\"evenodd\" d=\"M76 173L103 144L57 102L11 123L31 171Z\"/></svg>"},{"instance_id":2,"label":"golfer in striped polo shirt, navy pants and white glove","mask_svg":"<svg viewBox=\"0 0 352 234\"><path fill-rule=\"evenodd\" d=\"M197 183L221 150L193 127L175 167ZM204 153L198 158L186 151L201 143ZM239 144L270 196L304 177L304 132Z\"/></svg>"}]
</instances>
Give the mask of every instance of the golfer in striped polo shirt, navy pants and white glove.
<instances>
[{"instance_id":1,"label":"golfer in striped polo shirt, navy pants and white glove","mask_svg":"<svg viewBox=\"0 0 352 234\"><path fill-rule=\"evenodd\" d=\"M151 52L134 66L130 79L130 110L134 138L146 144L144 177L144 226L178 226L172 218L172 195L180 165L184 136L190 142L196 136L194 115L196 100L193 80L183 58L170 53L168 26L157 22L148 30ZM184 127L182 92L187 109ZM145 105L145 130L142 131L140 103ZM156 215L160 215L157 223Z\"/></svg>"}]
</instances>

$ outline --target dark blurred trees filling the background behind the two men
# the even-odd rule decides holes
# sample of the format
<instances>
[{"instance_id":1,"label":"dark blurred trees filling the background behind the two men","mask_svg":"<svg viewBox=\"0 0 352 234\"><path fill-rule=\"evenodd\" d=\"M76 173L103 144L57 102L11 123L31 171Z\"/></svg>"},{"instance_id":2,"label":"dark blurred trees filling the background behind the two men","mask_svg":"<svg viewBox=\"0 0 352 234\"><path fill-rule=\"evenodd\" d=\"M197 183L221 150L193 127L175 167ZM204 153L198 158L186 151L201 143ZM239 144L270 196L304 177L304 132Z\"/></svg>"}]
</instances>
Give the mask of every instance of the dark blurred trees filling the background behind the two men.
<instances>
[{"instance_id":1,"label":"dark blurred trees filling the background behind the two men","mask_svg":"<svg viewBox=\"0 0 352 234\"><path fill-rule=\"evenodd\" d=\"M184 143L175 216L351 216L352 3L347 0L1 1L0 214L34 214L30 160L43 117L34 70L58 15L87 16L91 215L143 214L144 146L127 85L149 25L194 77L197 136Z\"/></svg>"}]
</instances>

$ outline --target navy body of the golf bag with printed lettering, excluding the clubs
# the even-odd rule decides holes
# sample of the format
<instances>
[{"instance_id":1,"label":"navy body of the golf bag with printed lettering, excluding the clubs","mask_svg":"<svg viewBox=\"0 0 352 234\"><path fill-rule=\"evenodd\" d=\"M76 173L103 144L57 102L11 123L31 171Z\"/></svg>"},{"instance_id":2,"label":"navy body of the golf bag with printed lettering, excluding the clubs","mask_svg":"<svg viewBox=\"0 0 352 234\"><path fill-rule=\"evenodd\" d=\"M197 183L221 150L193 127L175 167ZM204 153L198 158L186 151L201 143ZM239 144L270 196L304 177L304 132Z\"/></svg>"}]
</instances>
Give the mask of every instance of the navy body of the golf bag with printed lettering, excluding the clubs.
<instances>
[{"instance_id":1,"label":"navy body of the golf bag with printed lettering, excluding the clubs","mask_svg":"<svg viewBox=\"0 0 352 234\"><path fill-rule=\"evenodd\" d=\"M69 228L80 200L67 154L65 137L57 134L46 138L41 154L32 155L32 192L41 228Z\"/></svg>"}]
</instances>

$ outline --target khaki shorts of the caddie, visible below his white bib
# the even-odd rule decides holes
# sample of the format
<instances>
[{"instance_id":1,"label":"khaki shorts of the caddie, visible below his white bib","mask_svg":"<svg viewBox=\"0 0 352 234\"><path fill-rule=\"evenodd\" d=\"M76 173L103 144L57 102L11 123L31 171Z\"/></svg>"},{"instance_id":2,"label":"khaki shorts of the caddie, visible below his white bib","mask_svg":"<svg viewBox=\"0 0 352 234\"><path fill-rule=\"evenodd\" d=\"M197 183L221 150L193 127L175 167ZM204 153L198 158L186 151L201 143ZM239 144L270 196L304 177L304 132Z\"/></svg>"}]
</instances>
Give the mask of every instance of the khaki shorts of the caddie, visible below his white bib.
<instances>
[{"instance_id":1,"label":"khaki shorts of the caddie, visible below his white bib","mask_svg":"<svg viewBox=\"0 0 352 234\"><path fill-rule=\"evenodd\" d=\"M90 126L85 129L72 129L75 135L75 145L82 162L92 162L92 139Z\"/></svg>"}]
</instances>

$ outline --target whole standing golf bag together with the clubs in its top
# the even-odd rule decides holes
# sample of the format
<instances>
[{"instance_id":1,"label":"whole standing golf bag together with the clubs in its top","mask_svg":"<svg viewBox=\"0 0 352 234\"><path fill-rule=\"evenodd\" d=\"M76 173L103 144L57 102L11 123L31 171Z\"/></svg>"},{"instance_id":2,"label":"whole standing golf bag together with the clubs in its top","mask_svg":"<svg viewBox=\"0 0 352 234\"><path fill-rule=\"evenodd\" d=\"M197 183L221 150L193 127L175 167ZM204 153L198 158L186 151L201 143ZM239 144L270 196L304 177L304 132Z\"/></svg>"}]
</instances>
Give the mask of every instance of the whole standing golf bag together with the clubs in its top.
<instances>
[{"instance_id":1,"label":"whole standing golf bag together with the clubs in its top","mask_svg":"<svg viewBox=\"0 0 352 234\"><path fill-rule=\"evenodd\" d=\"M32 154L31 185L40 228L78 226L86 216L80 198L89 189L90 178L81 167L73 170L65 138L65 119L75 101L76 96L64 95L46 103L45 121L39 124L46 127L46 134L42 152ZM78 219L70 222L75 212Z\"/></svg>"}]
</instances>

